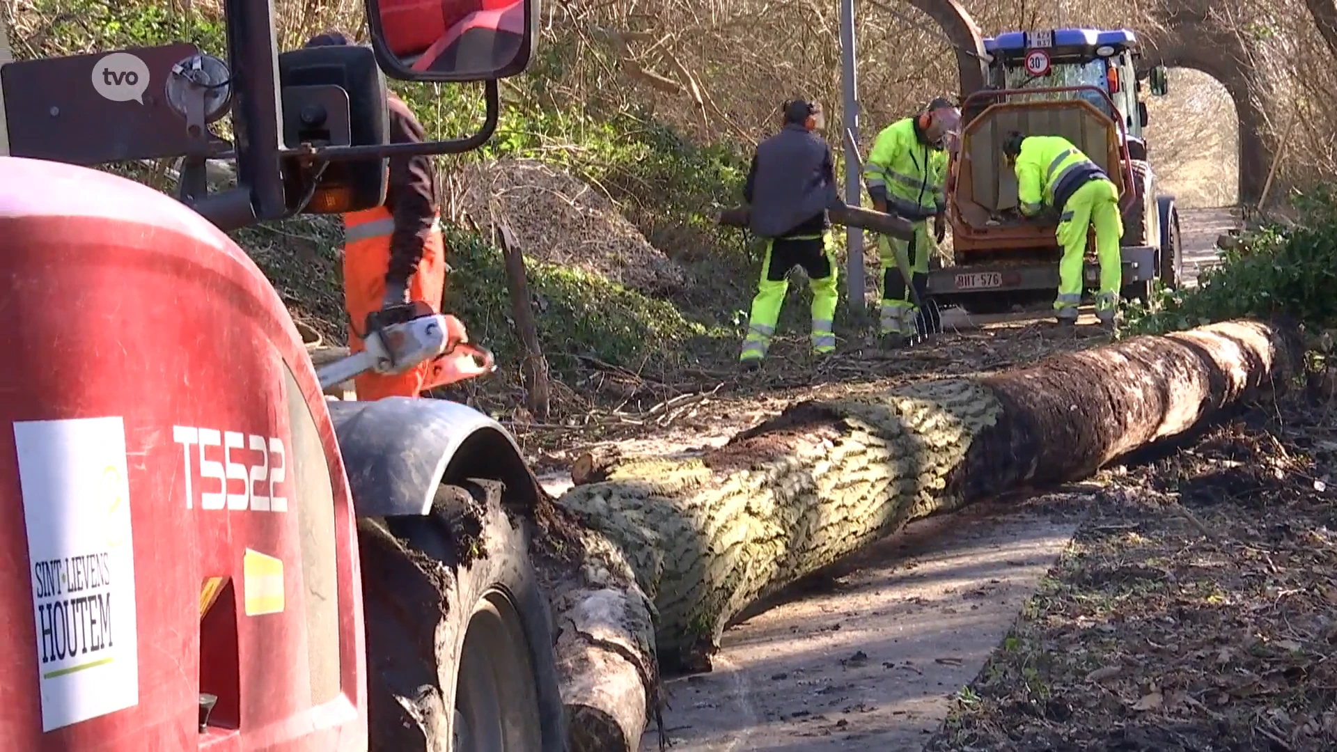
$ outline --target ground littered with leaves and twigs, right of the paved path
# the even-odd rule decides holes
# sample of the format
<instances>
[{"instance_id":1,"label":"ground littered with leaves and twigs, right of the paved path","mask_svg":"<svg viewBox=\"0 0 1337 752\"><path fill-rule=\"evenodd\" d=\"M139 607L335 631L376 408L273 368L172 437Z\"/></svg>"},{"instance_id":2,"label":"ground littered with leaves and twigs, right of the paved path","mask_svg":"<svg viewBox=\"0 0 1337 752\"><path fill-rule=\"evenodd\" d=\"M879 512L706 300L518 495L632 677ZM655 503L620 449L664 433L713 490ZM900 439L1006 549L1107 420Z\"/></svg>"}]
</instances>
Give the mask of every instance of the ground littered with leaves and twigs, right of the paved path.
<instances>
[{"instance_id":1,"label":"ground littered with leaves and twigs, right of the paved path","mask_svg":"<svg viewBox=\"0 0 1337 752\"><path fill-rule=\"evenodd\" d=\"M1106 474L927 749L1337 749L1337 510L1313 487L1333 424L1297 396Z\"/></svg>"}]
</instances>

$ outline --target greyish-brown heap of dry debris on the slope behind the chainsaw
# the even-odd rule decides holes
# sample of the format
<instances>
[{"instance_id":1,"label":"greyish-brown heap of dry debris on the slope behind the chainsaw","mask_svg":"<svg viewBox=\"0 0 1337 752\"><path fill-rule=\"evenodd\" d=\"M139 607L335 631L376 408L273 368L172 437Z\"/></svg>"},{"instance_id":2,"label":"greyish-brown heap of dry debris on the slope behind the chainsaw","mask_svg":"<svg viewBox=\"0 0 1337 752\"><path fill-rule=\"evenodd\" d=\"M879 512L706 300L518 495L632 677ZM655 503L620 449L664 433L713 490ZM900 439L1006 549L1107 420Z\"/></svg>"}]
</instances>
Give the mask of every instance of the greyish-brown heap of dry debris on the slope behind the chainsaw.
<instances>
[{"instance_id":1,"label":"greyish-brown heap of dry debris on the slope behind the chainsaw","mask_svg":"<svg viewBox=\"0 0 1337 752\"><path fill-rule=\"evenodd\" d=\"M473 163L452 178L455 209L480 229L495 211L524 254L602 274L647 294L683 288L682 266L628 222L602 193L533 159Z\"/></svg>"}]
</instances>

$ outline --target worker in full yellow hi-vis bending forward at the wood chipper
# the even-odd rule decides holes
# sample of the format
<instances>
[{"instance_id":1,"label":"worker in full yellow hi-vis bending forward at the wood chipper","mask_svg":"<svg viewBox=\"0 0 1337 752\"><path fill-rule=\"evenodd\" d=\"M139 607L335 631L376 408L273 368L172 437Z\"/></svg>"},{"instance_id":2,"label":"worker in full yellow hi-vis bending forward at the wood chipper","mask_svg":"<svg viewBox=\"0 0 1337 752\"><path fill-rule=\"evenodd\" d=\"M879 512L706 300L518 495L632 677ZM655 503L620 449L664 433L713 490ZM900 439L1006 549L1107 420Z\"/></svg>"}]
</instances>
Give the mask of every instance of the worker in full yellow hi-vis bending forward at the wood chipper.
<instances>
[{"instance_id":1,"label":"worker in full yellow hi-vis bending forward at the wood chipper","mask_svg":"<svg viewBox=\"0 0 1337 752\"><path fill-rule=\"evenodd\" d=\"M1012 131L1003 142L1003 158L1016 171L1017 205L1034 217L1046 205L1060 211L1055 233L1063 246L1059 261L1059 296L1054 312L1059 324L1076 324L1082 302L1082 268L1087 234L1095 227L1095 254L1100 261L1100 290L1095 314L1100 324L1114 322L1123 282L1119 240L1119 189L1110 177L1072 142L1056 135L1028 136Z\"/></svg>"}]
</instances>

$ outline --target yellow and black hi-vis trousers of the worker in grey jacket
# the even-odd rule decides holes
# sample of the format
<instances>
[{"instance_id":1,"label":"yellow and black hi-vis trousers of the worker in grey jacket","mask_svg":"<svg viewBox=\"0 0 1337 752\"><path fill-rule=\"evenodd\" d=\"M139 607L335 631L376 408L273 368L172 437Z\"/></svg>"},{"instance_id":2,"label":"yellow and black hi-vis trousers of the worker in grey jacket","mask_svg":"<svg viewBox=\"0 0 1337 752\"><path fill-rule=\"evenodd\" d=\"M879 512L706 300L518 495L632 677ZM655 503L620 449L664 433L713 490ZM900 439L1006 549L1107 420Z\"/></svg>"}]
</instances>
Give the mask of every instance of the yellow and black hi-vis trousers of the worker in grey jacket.
<instances>
[{"instance_id":1,"label":"yellow and black hi-vis trousers of the worker in grey jacket","mask_svg":"<svg viewBox=\"0 0 1337 752\"><path fill-rule=\"evenodd\" d=\"M766 357L770 340L775 336L779 308L789 292L789 270L802 266L808 285L813 290L813 352L829 353L836 349L836 254L832 234L774 238L766 242L766 256L761 264L757 297L753 298L747 321L747 339L739 360Z\"/></svg>"}]
</instances>

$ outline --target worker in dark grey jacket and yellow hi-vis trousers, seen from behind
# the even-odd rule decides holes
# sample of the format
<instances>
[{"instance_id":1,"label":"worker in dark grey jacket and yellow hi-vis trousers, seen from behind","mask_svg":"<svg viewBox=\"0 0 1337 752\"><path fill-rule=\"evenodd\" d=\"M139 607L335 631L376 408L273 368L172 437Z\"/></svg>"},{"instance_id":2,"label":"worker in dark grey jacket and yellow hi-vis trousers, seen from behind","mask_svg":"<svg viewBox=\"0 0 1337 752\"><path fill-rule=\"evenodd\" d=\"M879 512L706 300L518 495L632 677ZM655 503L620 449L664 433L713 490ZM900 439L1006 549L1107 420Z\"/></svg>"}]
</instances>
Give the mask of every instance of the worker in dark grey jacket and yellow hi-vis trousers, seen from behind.
<instances>
[{"instance_id":1,"label":"worker in dark grey jacket and yellow hi-vis trousers, seen from behind","mask_svg":"<svg viewBox=\"0 0 1337 752\"><path fill-rule=\"evenodd\" d=\"M747 171L743 199L750 205L750 229L766 238L766 253L739 355L746 368L758 368L766 357L794 266L802 266L813 290L813 353L836 349L836 256L826 210L844 203L830 147L814 132L822 124L820 104L786 102L783 127L757 146Z\"/></svg>"}]
</instances>

